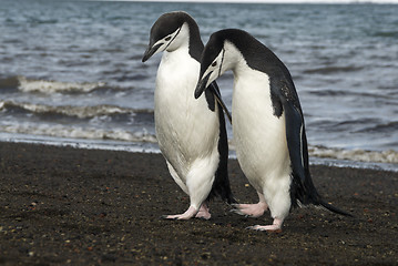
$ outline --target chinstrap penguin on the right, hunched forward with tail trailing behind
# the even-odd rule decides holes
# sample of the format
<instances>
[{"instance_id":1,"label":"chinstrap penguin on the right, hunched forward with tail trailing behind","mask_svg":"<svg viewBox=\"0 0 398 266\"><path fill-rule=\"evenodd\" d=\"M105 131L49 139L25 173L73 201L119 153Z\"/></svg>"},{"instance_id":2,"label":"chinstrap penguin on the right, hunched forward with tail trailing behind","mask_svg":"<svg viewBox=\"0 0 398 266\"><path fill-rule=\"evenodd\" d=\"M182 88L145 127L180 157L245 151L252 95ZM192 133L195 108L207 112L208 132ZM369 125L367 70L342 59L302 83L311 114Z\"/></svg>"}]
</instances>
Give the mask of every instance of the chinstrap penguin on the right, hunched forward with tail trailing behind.
<instances>
[{"instance_id":1,"label":"chinstrap penguin on the right, hunched forward with tail trailing behind","mask_svg":"<svg viewBox=\"0 0 398 266\"><path fill-rule=\"evenodd\" d=\"M249 33L227 29L213 33L201 58L195 98L225 71L234 73L232 126L239 165L257 191L257 204L236 204L234 212L258 217L269 208L282 231L292 206L314 204L351 216L323 201L308 167L304 116L285 64Z\"/></svg>"}]
</instances>

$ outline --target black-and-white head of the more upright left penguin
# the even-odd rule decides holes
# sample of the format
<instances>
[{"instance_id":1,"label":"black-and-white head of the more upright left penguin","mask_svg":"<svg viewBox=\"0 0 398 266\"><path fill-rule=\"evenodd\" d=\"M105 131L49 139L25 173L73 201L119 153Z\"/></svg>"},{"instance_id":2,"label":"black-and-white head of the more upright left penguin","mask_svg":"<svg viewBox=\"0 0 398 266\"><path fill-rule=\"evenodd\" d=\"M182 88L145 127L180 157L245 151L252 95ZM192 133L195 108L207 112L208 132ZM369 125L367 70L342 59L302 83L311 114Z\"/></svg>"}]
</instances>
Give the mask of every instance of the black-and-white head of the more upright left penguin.
<instances>
[{"instance_id":1,"label":"black-and-white head of the more upright left penguin","mask_svg":"<svg viewBox=\"0 0 398 266\"><path fill-rule=\"evenodd\" d=\"M187 43L190 40L187 22L190 20L193 19L183 11L162 14L151 28L150 44L142 58L142 62L159 52L172 52Z\"/></svg>"}]
</instances>

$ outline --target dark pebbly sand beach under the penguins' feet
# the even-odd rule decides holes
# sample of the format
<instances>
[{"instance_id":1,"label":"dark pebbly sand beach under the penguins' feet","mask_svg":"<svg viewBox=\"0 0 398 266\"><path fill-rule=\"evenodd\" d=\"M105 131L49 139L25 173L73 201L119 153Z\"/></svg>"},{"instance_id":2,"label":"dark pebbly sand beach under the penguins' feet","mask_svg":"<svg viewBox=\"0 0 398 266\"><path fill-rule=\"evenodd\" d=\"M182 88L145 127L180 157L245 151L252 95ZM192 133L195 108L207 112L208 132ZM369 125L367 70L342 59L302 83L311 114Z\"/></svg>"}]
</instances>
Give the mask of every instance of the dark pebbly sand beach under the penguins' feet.
<instances>
[{"instance_id":1,"label":"dark pebbly sand beach under the penguins' feet","mask_svg":"<svg viewBox=\"0 0 398 266\"><path fill-rule=\"evenodd\" d=\"M159 154L0 143L2 265L397 265L398 173L312 166L324 197L356 216L293 209L271 223L211 203L210 221L164 221L188 198ZM237 162L233 192L256 202Z\"/></svg>"}]
</instances>

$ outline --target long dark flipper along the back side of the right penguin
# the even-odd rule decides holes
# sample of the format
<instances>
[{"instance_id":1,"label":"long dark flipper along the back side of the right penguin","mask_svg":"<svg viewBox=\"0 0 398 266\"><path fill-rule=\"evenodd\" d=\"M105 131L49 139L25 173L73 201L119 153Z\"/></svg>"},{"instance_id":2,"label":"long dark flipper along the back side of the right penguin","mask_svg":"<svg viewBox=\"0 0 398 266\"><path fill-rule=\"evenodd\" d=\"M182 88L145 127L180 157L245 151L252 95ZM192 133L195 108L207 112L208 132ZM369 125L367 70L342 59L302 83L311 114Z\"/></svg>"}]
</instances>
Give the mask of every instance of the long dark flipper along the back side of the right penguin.
<instances>
[{"instance_id":1,"label":"long dark flipper along the back side of the right penguin","mask_svg":"<svg viewBox=\"0 0 398 266\"><path fill-rule=\"evenodd\" d=\"M279 99L285 113L286 140L289 151L295 182L306 187L306 178L310 178L308 170L308 147L305 134L303 111L293 82L279 84Z\"/></svg>"}]
</instances>

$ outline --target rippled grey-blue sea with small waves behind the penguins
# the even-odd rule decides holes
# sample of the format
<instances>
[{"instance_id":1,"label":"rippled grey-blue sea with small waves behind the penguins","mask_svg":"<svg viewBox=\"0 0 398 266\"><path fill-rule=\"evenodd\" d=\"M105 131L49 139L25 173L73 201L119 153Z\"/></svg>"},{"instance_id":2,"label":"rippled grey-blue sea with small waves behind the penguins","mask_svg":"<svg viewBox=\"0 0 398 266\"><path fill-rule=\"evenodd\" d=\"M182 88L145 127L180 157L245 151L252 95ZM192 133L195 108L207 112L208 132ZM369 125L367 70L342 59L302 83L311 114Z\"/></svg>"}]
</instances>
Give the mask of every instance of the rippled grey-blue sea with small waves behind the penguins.
<instances>
[{"instance_id":1,"label":"rippled grey-blue sea with small waves behind the penguins","mask_svg":"<svg viewBox=\"0 0 398 266\"><path fill-rule=\"evenodd\" d=\"M398 4L1 0L0 140L156 152L161 55L141 59L153 22L174 10L204 42L239 28L285 62L313 161L398 170ZM218 81L229 108L232 79Z\"/></svg>"}]
</instances>

